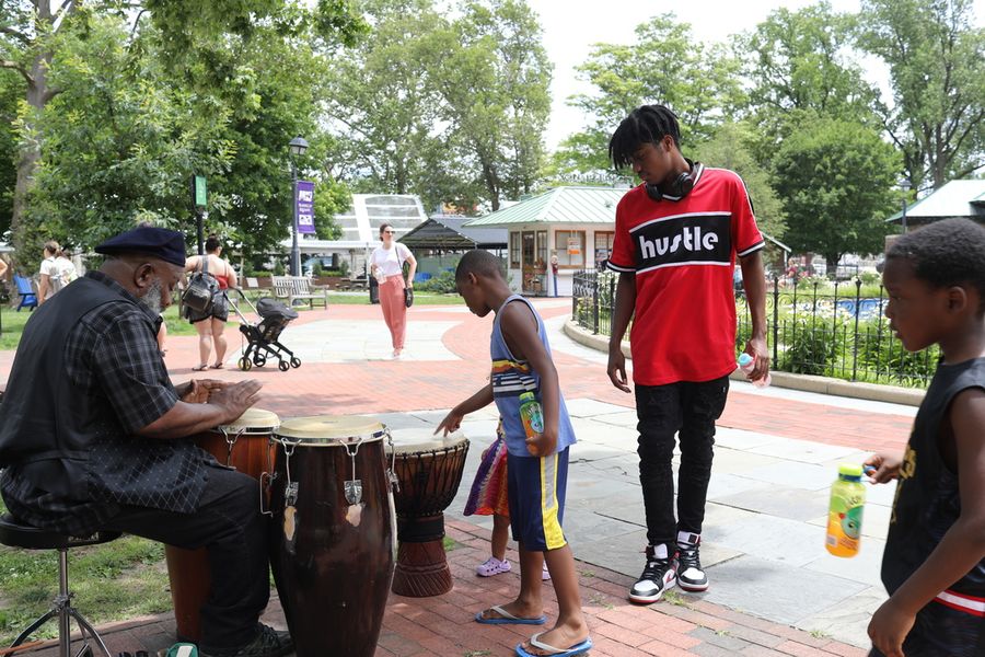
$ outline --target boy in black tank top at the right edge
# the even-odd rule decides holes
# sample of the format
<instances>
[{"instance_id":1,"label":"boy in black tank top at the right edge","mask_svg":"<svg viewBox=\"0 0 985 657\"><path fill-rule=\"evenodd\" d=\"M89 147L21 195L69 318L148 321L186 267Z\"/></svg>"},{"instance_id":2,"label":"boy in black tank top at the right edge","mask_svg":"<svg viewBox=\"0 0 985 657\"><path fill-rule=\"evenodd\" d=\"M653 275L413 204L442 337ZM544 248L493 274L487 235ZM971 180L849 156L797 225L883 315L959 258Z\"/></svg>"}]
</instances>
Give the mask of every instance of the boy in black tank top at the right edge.
<instances>
[{"instance_id":1,"label":"boy in black tank top at the right edge","mask_svg":"<svg viewBox=\"0 0 985 657\"><path fill-rule=\"evenodd\" d=\"M985 228L948 219L903 235L883 283L903 346L938 344L941 361L905 453L866 462L876 483L899 480L870 655L985 655Z\"/></svg>"}]
</instances>

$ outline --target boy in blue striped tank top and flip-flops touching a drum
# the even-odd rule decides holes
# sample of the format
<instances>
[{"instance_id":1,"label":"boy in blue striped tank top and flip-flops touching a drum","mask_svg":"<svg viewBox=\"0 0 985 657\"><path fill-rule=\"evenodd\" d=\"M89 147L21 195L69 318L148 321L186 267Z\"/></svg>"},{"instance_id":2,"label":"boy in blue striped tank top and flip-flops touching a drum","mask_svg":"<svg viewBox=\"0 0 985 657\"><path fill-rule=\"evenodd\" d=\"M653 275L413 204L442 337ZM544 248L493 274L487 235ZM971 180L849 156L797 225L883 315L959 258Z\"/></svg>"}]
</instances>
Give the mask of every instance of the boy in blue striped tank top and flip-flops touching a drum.
<instances>
[{"instance_id":1,"label":"boy in blue striped tank top and flip-flops touching a drum","mask_svg":"<svg viewBox=\"0 0 985 657\"><path fill-rule=\"evenodd\" d=\"M489 383L455 406L436 434L448 435L462 418L496 402L507 443L510 525L520 543L520 595L515 600L476 614L484 624L542 625L547 621L541 599L541 554L557 593L554 627L517 646L520 657L583 655L592 647L581 611L575 557L561 531L568 447L575 430L551 359L544 322L526 299L513 295L487 251L470 251L459 262L455 287L474 314L496 313ZM533 392L544 413L544 433L526 438L520 419L520 394Z\"/></svg>"}]
</instances>

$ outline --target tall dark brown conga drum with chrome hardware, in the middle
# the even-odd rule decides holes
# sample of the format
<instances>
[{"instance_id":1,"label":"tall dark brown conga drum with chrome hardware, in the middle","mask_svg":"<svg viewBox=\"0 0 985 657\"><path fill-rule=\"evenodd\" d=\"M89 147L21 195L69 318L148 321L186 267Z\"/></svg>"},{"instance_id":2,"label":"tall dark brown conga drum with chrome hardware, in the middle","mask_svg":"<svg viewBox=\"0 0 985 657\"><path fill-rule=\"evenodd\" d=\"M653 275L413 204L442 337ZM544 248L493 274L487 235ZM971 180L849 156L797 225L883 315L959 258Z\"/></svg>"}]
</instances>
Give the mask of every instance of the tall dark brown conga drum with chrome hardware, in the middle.
<instances>
[{"instance_id":1,"label":"tall dark brown conga drum with chrome hardware, in the middle","mask_svg":"<svg viewBox=\"0 0 985 657\"><path fill-rule=\"evenodd\" d=\"M285 420L270 483L274 580L298 657L372 657L396 548L386 427Z\"/></svg>"}]
</instances>

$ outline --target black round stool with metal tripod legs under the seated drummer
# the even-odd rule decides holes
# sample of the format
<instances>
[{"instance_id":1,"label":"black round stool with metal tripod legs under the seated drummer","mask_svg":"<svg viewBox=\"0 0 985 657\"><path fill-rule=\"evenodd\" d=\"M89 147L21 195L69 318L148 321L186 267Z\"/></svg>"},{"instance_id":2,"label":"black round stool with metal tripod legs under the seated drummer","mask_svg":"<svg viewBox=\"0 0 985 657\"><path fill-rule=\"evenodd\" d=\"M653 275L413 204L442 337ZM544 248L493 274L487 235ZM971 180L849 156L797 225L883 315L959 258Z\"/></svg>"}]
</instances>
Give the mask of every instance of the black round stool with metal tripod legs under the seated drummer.
<instances>
[{"instance_id":1,"label":"black round stool with metal tripod legs under the seated drummer","mask_svg":"<svg viewBox=\"0 0 985 657\"><path fill-rule=\"evenodd\" d=\"M113 657L102 637L93 626L72 607L72 593L68 587L68 551L83 545L99 545L118 539L118 531L97 531L89 537L67 537L54 531L47 531L24 525L10 514L0 516L0 543L11 548L25 548L27 550L57 550L58 551L58 595L55 596L55 604L43 616L31 623L31 626L21 632L20 636L11 644L11 648L24 643L38 627L51 619L58 619L58 657L72 657L72 626L76 619L82 635L82 647L78 656L91 656L92 647L89 642L94 642L106 657ZM86 635L89 638L86 638Z\"/></svg>"}]
</instances>

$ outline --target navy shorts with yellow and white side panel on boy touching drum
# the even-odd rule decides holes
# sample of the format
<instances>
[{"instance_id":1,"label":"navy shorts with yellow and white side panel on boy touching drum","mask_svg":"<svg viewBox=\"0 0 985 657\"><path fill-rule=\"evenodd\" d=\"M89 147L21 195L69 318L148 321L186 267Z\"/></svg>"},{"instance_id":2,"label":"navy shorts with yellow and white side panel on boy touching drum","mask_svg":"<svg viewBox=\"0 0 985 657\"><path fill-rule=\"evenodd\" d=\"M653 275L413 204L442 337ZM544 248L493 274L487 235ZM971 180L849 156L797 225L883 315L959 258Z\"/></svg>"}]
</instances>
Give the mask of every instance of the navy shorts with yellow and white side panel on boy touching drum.
<instances>
[{"instance_id":1,"label":"navy shorts with yellow and white side panel on boy touching drum","mask_svg":"<svg viewBox=\"0 0 985 657\"><path fill-rule=\"evenodd\" d=\"M544 552L568 544L561 523L568 486L568 448L549 457L507 457L510 527L523 550Z\"/></svg>"}]
</instances>

